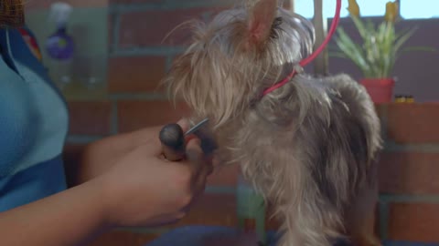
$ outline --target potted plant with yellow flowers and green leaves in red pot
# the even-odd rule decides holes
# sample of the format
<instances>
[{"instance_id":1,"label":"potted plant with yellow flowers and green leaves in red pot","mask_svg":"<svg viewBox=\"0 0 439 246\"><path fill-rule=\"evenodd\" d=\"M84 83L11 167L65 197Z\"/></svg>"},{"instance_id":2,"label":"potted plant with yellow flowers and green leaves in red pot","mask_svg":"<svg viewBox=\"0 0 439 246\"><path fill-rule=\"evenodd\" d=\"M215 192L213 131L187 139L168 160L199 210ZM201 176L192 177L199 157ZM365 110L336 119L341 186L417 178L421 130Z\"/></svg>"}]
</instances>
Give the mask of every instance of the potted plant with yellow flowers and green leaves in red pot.
<instances>
[{"instance_id":1,"label":"potted plant with yellow flowers and green leaves in red pot","mask_svg":"<svg viewBox=\"0 0 439 246\"><path fill-rule=\"evenodd\" d=\"M380 25L371 20L363 21L359 16L356 0L348 0L348 12L362 39L362 44L354 42L342 27L337 28L335 41L339 49L334 56L351 60L363 74L360 79L374 103L391 102L395 80L392 70L402 45L413 35L414 29L396 33L398 3L388 2L386 14Z\"/></svg>"}]
</instances>

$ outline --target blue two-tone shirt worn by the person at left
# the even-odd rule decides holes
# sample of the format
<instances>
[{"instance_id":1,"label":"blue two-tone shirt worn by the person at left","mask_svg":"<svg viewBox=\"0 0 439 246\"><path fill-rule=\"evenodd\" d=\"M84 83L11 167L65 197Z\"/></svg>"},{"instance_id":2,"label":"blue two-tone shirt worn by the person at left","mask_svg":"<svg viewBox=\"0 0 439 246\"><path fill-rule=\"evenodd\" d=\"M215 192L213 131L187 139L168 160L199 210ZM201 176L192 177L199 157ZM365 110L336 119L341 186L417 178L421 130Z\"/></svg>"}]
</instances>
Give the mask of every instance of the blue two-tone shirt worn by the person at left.
<instances>
[{"instance_id":1,"label":"blue two-tone shirt worn by the person at left","mask_svg":"<svg viewBox=\"0 0 439 246\"><path fill-rule=\"evenodd\" d=\"M16 29L0 29L0 211L67 189L69 116L46 68Z\"/></svg>"}]
</instances>

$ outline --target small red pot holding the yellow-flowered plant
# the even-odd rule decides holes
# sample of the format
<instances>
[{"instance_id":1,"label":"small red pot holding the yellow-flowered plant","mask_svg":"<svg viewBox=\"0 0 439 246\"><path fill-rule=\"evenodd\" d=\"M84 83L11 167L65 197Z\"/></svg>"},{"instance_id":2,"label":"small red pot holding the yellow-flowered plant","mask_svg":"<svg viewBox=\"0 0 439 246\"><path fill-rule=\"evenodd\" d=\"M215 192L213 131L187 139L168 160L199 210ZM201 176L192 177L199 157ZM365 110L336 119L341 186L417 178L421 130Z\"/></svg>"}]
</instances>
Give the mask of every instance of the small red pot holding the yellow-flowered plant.
<instances>
[{"instance_id":1,"label":"small red pot holding the yellow-flowered plant","mask_svg":"<svg viewBox=\"0 0 439 246\"><path fill-rule=\"evenodd\" d=\"M395 80L393 78L363 78L359 81L366 87L374 103L390 103L393 97L393 87Z\"/></svg>"}]
</instances>

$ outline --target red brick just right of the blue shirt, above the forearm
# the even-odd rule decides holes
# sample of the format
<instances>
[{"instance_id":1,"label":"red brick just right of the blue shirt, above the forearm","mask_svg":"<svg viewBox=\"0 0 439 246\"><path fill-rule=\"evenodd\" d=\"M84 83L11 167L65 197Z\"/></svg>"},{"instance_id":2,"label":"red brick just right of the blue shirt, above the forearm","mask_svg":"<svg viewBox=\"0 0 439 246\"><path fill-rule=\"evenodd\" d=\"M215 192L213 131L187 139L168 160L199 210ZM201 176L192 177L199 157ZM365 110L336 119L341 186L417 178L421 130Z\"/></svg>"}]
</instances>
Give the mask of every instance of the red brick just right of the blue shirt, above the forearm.
<instances>
[{"instance_id":1,"label":"red brick just right of the blue shirt, above the forearm","mask_svg":"<svg viewBox=\"0 0 439 246\"><path fill-rule=\"evenodd\" d=\"M106 135L111 130L112 104L108 101L69 103L70 134Z\"/></svg>"}]
</instances>

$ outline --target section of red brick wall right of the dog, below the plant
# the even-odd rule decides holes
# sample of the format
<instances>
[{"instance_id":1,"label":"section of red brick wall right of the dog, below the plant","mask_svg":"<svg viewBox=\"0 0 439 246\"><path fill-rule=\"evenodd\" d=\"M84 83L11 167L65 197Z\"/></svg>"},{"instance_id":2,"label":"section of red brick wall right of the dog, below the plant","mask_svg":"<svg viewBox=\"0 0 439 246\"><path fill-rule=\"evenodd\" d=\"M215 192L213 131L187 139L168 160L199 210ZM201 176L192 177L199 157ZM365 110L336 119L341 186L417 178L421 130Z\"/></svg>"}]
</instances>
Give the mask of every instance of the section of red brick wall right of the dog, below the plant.
<instances>
[{"instance_id":1,"label":"section of red brick wall right of the dog, below the plant","mask_svg":"<svg viewBox=\"0 0 439 246\"><path fill-rule=\"evenodd\" d=\"M439 104L381 106L380 232L390 241L439 243Z\"/></svg>"}]
</instances>

